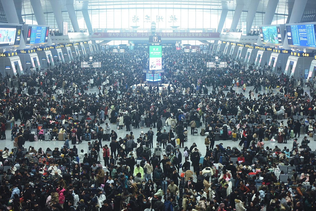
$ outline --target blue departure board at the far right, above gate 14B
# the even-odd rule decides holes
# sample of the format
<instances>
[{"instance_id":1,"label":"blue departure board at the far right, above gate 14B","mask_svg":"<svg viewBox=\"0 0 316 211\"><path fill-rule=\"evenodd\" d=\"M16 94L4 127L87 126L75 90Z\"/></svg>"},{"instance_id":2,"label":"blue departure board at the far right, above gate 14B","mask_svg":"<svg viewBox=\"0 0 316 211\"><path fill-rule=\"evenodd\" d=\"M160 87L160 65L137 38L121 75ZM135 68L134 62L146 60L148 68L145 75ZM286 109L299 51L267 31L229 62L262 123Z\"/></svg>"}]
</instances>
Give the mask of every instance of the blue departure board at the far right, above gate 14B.
<instances>
[{"instance_id":1,"label":"blue departure board at the far right, above gate 14B","mask_svg":"<svg viewBox=\"0 0 316 211\"><path fill-rule=\"evenodd\" d=\"M291 25L286 26L289 45L316 47L316 25Z\"/></svg>"}]
</instances>

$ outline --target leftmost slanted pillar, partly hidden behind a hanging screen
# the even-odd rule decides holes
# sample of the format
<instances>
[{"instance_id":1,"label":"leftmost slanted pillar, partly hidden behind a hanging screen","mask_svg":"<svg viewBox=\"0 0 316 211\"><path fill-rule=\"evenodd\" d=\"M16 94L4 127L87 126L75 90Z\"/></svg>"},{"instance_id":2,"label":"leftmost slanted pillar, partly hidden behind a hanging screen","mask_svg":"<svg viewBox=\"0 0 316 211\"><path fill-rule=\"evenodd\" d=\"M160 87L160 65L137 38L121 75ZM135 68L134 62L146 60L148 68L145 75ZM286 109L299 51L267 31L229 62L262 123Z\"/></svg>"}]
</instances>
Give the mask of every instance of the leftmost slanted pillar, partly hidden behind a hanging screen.
<instances>
[{"instance_id":1,"label":"leftmost slanted pillar, partly hidden behind a hanging screen","mask_svg":"<svg viewBox=\"0 0 316 211\"><path fill-rule=\"evenodd\" d=\"M16 13L16 10L15 10L13 0L1 0L1 3L2 3L3 9L4 9L5 16L7 17L8 23L19 24L19 18L18 18L18 15ZM22 33L21 33L20 38L21 38L20 39L20 46L17 47L17 49L22 50L22 49L25 49L25 41L24 41Z\"/></svg>"}]
</instances>

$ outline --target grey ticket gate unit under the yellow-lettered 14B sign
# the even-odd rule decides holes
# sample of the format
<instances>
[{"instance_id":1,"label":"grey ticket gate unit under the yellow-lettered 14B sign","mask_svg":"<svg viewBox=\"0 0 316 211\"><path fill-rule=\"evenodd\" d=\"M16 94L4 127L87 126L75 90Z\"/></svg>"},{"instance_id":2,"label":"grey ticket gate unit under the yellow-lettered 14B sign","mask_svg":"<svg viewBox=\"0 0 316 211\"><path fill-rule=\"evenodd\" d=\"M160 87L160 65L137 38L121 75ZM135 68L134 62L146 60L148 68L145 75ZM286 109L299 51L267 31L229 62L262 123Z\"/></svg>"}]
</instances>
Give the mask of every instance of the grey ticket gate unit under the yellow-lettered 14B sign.
<instances>
[{"instance_id":1,"label":"grey ticket gate unit under the yellow-lettered 14B sign","mask_svg":"<svg viewBox=\"0 0 316 211\"><path fill-rule=\"evenodd\" d=\"M298 79L307 78L311 63L314 59L313 53L291 52L286 63L284 74Z\"/></svg>"}]
</instances>

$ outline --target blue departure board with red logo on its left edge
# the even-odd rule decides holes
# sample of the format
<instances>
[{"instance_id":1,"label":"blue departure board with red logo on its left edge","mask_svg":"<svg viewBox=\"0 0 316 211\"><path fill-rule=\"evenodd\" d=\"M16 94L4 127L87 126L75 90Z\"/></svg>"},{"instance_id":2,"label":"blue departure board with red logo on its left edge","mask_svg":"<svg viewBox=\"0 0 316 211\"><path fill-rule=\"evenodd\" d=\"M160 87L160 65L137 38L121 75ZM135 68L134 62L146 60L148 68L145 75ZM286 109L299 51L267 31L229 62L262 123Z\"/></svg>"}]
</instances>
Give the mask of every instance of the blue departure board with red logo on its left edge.
<instances>
[{"instance_id":1,"label":"blue departure board with red logo on its left edge","mask_svg":"<svg viewBox=\"0 0 316 211\"><path fill-rule=\"evenodd\" d=\"M45 43L48 40L49 27L29 26L27 28L26 44Z\"/></svg>"}]
</instances>

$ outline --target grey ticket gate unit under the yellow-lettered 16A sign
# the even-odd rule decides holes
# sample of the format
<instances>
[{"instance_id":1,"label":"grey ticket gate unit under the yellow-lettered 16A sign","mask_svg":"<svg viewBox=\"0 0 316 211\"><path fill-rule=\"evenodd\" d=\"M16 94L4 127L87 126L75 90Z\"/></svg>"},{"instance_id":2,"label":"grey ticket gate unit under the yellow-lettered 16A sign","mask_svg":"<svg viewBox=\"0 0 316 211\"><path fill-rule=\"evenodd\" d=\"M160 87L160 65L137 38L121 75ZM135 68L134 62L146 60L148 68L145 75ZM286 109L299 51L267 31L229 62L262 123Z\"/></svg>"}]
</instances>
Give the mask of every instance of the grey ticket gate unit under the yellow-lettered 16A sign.
<instances>
[{"instance_id":1,"label":"grey ticket gate unit under the yellow-lettered 16A sign","mask_svg":"<svg viewBox=\"0 0 316 211\"><path fill-rule=\"evenodd\" d=\"M20 57L23 69L30 70L35 67L36 71L40 71L40 60L34 49L16 50L16 53Z\"/></svg>"}]
</instances>

